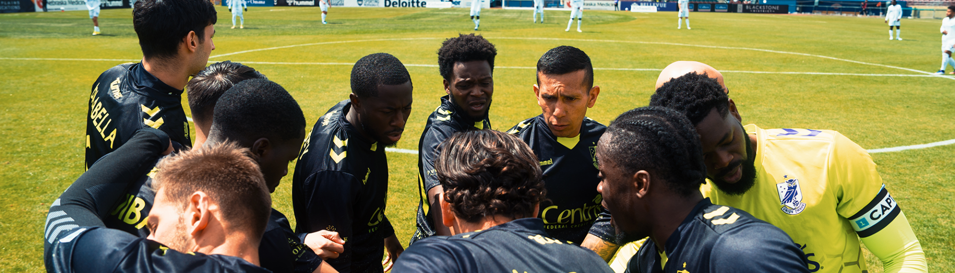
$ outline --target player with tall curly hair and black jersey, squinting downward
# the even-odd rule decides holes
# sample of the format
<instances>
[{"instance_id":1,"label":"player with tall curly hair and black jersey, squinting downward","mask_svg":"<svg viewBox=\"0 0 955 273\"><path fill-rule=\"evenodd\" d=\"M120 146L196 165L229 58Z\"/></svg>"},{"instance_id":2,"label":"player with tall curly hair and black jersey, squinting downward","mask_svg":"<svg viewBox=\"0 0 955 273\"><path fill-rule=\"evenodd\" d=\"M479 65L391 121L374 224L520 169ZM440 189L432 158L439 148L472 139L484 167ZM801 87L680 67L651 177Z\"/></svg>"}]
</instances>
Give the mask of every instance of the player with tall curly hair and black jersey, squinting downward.
<instances>
[{"instance_id":1,"label":"player with tall curly hair and black jersey, squinting downward","mask_svg":"<svg viewBox=\"0 0 955 273\"><path fill-rule=\"evenodd\" d=\"M418 142L417 229L410 243L425 237L451 235L441 222L440 195L444 193L435 174L438 144L457 132L491 129L488 118L494 94L494 57L498 50L480 35L460 34L437 50L437 67L444 78L441 105L428 115Z\"/></svg>"}]
</instances>

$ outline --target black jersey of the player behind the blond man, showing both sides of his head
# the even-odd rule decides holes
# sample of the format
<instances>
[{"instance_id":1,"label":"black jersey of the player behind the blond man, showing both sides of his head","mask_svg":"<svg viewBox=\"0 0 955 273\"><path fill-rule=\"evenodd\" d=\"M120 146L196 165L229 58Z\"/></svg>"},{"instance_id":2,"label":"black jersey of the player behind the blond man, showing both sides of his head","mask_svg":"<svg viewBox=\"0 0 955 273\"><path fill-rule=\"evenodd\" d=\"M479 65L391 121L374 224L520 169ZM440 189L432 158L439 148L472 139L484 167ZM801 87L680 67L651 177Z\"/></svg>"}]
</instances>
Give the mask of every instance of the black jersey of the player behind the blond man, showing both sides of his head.
<instances>
[{"instance_id":1,"label":"black jersey of the player behind the blond man, showing both sides of his head","mask_svg":"<svg viewBox=\"0 0 955 273\"><path fill-rule=\"evenodd\" d=\"M153 201L156 200L152 176L158 171L155 168L155 162L158 161L152 163L154 167L148 175L130 184L123 198L103 217L106 227L141 238L149 236L149 229L145 225L149 211L153 208ZM94 198L96 197L95 195ZM275 273L311 273L322 263L322 258L292 232L286 216L274 208L259 244L259 260L262 267Z\"/></svg>"}]
</instances>

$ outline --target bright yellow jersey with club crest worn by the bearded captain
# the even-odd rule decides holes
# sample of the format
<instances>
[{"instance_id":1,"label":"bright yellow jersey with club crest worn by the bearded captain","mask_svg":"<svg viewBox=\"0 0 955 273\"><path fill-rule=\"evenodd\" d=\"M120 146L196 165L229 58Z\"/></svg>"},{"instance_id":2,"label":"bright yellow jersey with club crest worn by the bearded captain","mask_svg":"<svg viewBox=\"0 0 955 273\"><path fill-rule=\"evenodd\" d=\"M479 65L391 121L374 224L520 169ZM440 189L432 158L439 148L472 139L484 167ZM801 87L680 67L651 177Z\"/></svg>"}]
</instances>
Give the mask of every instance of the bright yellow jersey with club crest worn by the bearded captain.
<instances>
[{"instance_id":1,"label":"bright yellow jersey with club crest worn by the bearded captain","mask_svg":"<svg viewBox=\"0 0 955 273\"><path fill-rule=\"evenodd\" d=\"M865 272L859 237L904 221L869 154L836 131L744 128L758 139L753 188L731 196L708 182L703 195L786 231L812 272Z\"/></svg>"}]
</instances>

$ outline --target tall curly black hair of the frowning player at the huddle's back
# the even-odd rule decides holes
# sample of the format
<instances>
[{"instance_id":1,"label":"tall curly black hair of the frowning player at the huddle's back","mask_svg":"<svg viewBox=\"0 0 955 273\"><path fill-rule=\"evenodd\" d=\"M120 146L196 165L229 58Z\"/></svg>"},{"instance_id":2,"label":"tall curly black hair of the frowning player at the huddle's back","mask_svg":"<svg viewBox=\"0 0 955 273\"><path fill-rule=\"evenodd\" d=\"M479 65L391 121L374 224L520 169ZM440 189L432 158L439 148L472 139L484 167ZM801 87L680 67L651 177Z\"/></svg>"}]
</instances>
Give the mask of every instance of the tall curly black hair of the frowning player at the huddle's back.
<instances>
[{"instance_id":1,"label":"tall curly black hair of the frowning player at the huddle's back","mask_svg":"<svg viewBox=\"0 0 955 273\"><path fill-rule=\"evenodd\" d=\"M493 74L494 57L497 55L498 50L483 36L475 33L457 34L457 37L444 40L437 50L437 70L441 77L450 81L456 62L487 61Z\"/></svg>"}]
</instances>

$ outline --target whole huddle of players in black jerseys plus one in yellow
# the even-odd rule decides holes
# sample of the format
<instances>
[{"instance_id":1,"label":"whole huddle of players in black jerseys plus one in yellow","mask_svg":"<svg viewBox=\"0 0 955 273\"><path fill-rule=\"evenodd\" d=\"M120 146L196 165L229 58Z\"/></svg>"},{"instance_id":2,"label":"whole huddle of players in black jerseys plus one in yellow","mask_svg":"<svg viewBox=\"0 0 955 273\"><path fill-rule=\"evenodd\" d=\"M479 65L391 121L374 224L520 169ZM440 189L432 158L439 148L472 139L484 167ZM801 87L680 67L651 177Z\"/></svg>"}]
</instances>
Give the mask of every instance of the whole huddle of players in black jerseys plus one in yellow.
<instances>
[{"instance_id":1,"label":"whole huddle of players in black jerseys plus one in yellow","mask_svg":"<svg viewBox=\"0 0 955 273\"><path fill-rule=\"evenodd\" d=\"M135 4L143 60L93 84L88 170L50 208L48 272L865 272L861 243L884 272L927 270L872 158L838 132L744 126L722 74L688 61L606 126L569 46L537 62L541 115L495 131L498 50L475 34L437 52L446 95L404 249L393 225L412 223L385 215L385 148L414 102L402 62L359 59L307 132L278 83L205 66L215 23L207 1ZM293 160L294 229L270 197Z\"/></svg>"}]
</instances>

